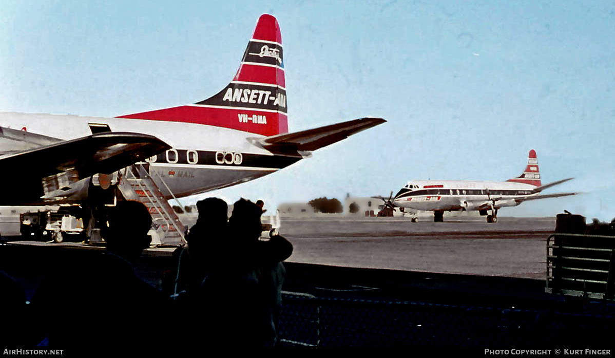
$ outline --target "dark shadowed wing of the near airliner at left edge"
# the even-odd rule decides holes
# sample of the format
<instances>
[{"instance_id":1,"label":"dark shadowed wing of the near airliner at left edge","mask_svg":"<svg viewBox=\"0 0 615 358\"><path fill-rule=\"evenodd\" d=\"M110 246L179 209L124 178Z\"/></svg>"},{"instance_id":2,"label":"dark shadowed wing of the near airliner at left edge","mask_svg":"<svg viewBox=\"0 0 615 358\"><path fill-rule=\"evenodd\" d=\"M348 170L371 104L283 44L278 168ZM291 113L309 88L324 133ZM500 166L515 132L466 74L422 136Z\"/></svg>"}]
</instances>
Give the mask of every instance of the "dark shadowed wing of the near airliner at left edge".
<instances>
[{"instance_id":1,"label":"dark shadowed wing of the near airliner at left edge","mask_svg":"<svg viewBox=\"0 0 615 358\"><path fill-rule=\"evenodd\" d=\"M0 201L34 201L51 181L66 178L74 182L96 173L113 173L169 148L151 135L106 132L5 153L0 156L0 186L4 192Z\"/></svg>"}]
</instances>

